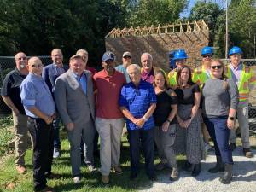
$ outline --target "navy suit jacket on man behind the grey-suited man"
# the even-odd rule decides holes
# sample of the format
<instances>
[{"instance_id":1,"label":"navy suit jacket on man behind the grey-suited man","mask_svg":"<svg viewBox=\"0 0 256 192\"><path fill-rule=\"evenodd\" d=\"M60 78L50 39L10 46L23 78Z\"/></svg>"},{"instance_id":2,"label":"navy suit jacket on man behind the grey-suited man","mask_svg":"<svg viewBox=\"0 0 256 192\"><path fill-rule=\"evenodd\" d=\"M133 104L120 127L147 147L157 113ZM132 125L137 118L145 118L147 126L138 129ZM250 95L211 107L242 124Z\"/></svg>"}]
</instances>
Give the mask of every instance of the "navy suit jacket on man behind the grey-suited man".
<instances>
[{"instance_id":1,"label":"navy suit jacket on man behind the grey-suited man","mask_svg":"<svg viewBox=\"0 0 256 192\"><path fill-rule=\"evenodd\" d=\"M67 72L68 67L63 66L63 68L64 68L65 72ZM45 66L43 68L42 77L43 77L45 83L48 85L49 90L51 92L53 92L53 88L55 86L55 80L57 79L57 77L59 77L59 74L57 72L57 69L56 69L54 63L52 63L48 66Z\"/></svg>"}]
</instances>

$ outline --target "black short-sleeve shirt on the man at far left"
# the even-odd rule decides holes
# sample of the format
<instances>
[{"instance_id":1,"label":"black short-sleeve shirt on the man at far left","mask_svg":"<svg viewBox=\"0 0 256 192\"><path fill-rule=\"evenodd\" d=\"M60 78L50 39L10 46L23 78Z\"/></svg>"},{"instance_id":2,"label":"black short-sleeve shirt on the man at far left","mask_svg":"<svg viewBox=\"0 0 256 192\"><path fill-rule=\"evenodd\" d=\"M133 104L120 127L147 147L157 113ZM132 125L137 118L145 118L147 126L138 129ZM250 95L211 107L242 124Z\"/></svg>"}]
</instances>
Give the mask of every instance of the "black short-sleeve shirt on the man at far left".
<instances>
[{"instance_id":1,"label":"black short-sleeve shirt on the man at far left","mask_svg":"<svg viewBox=\"0 0 256 192\"><path fill-rule=\"evenodd\" d=\"M21 74L16 68L6 75L1 90L1 96L9 96L21 114L25 114L25 110L20 99L20 84L25 78L26 75Z\"/></svg>"}]
</instances>

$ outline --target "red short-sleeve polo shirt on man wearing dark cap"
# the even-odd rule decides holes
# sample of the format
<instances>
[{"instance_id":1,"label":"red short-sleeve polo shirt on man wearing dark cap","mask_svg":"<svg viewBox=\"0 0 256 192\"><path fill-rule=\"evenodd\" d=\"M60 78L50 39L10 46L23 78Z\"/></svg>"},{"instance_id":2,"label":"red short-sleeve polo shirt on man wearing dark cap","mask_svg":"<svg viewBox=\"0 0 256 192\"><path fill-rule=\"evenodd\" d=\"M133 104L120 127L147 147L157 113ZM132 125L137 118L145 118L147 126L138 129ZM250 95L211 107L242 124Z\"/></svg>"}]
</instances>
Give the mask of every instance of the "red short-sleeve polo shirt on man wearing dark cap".
<instances>
[{"instance_id":1,"label":"red short-sleeve polo shirt on man wearing dark cap","mask_svg":"<svg viewBox=\"0 0 256 192\"><path fill-rule=\"evenodd\" d=\"M123 118L119 109L119 95L126 84L125 75L114 71L113 76L103 69L93 76L96 85L96 117L102 119Z\"/></svg>"}]
</instances>

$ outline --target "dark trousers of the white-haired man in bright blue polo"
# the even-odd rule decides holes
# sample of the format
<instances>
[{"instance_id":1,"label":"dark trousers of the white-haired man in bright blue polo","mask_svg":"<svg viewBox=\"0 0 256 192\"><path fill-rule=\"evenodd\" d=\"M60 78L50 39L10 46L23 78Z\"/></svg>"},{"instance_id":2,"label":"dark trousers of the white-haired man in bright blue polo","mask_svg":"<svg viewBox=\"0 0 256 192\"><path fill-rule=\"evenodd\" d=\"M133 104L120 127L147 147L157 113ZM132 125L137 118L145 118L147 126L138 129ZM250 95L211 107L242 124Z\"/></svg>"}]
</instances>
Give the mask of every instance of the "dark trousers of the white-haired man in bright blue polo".
<instances>
[{"instance_id":1,"label":"dark trousers of the white-haired man in bright blue polo","mask_svg":"<svg viewBox=\"0 0 256 192\"><path fill-rule=\"evenodd\" d=\"M137 173L139 170L140 140L142 139L146 172L148 177L154 176L154 129L128 130L128 134L131 155L131 172Z\"/></svg>"}]
</instances>

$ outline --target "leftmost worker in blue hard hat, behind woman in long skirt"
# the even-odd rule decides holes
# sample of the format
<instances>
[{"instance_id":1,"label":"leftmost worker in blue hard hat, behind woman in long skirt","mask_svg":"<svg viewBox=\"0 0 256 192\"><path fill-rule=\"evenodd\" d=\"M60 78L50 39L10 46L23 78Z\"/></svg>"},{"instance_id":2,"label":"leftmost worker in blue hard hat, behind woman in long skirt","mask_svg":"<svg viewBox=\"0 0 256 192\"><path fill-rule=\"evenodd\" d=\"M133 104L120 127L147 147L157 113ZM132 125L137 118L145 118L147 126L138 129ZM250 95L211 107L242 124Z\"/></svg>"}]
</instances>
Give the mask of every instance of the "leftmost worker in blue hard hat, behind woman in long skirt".
<instances>
[{"instance_id":1,"label":"leftmost worker in blue hard hat, behind woman in long skirt","mask_svg":"<svg viewBox=\"0 0 256 192\"><path fill-rule=\"evenodd\" d=\"M188 55L186 54L184 49L177 49L177 51L175 51L172 60L175 61L175 65L177 68L173 69L170 73L168 73L168 80L171 86L177 85L177 70L185 65L187 59Z\"/></svg>"}]
</instances>

